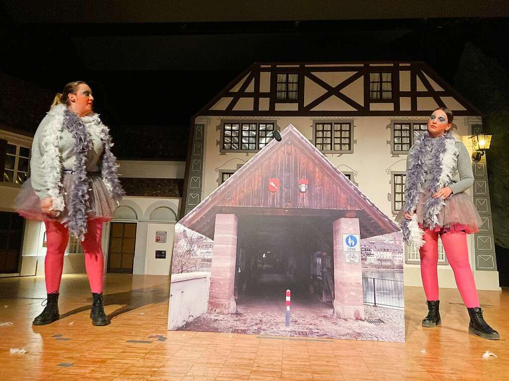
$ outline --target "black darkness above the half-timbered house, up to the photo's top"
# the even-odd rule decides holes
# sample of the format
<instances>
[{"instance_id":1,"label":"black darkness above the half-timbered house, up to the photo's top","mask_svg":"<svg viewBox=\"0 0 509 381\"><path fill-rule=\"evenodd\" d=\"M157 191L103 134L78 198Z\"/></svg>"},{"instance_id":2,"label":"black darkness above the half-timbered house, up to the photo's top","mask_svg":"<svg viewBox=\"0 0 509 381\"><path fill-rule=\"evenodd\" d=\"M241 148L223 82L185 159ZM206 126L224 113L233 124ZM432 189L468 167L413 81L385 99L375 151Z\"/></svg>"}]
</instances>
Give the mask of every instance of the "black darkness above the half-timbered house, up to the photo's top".
<instances>
[{"instance_id":1,"label":"black darkness above the half-timbered house, up to the photo's top","mask_svg":"<svg viewBox=\"0 0 509 381\"><path fill-rule=\"evenodd\" d=\"M503 66L509 61L506 2L98 4L4 0L0 71L51 93L71 80L89 82L114 132L150 131L144 141L159 142L159 153L149 156L166 144L156 131L186 130L252 62L426 61L452 81L468 42Z\"/></svg>"}]
</instances>

